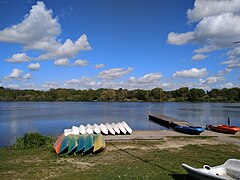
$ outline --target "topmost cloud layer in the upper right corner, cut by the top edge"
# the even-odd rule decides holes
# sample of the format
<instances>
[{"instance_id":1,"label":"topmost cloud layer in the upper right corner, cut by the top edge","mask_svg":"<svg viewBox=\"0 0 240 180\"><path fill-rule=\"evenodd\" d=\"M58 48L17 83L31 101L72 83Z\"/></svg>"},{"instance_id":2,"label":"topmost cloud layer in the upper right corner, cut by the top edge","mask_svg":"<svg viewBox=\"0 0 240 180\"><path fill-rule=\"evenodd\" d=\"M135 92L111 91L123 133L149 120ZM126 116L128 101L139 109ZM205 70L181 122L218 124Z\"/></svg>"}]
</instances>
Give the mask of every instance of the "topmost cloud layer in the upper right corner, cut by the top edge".
<instances>
[{"instance_id":1,"label":"topmost cloud layer in the upper right corner, cut by the top edge","mask_svg":"<svg viewBox=\"0 0 240 180\"><path fill-rule=\"evenodd\" d=\"M239 0L196 0L193 9L188 9L187 17L190 22L196 22L207 16L240 11Z\"/></svg>"}]
</instances>

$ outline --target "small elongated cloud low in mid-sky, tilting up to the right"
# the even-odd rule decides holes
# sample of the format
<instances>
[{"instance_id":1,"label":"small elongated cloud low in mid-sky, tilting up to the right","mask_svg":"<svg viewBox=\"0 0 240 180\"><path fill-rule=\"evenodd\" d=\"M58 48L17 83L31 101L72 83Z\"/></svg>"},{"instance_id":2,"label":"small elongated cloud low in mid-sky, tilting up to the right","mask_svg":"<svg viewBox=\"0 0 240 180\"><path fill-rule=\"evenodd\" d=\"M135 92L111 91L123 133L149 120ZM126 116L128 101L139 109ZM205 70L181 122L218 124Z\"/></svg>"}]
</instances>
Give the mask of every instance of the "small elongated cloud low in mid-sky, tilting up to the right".
<instances>
[{"instance_id":1,"label":"small elongated cloud low in mid-sky, tilting up to the right","mask_svg":"<svg viewBox=\"0 0 240 180\"><path fill-rule=\"evenodd\" d=\"M112 68L105 71L102 71L98 74L100 79L118 79L123 77L126 74L129 74L133 71L133 68L129 67L128 69L123 68Z\"/></svg>"}]
</instances>

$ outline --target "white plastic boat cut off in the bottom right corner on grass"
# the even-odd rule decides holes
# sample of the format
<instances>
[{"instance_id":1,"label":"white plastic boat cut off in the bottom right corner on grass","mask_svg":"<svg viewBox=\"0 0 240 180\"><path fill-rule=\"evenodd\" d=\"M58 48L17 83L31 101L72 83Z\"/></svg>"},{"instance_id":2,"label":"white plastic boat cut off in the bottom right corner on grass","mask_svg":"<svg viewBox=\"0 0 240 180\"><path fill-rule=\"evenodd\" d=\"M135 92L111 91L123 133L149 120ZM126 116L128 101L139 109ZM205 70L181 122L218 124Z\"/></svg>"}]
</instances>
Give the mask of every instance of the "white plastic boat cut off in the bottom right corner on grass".
<instances>
[{"instance_id":1,"label":"white plastic boat cut off in the bottom right corner on grass","mask_svg":"<svg viewBox=\"0 0 240 180\"><path fill-rule=\"evenodd\" d=\"M240 178L239 159L228 159L224 164L214 167L204 165L203 168L194 168L187 164L182 164L182 167L189 173L191 177L201 180L231 180Z\"/></svg>"}]
</instances>

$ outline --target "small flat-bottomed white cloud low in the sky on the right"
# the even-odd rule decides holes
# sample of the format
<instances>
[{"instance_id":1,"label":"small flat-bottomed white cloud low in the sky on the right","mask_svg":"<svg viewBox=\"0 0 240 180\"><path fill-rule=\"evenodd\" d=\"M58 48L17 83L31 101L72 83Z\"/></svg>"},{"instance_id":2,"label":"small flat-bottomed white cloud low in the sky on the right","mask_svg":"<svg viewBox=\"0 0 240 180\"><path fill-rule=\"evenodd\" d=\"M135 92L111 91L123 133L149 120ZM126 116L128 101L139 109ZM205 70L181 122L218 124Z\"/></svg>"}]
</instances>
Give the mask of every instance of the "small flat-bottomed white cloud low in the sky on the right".
<instances>
[{"instance_id":1,"label":"small flat-bottomed white cloud low in the sky on the right","mask_svg":"<svg viewBox=\"0 0 240 180\"><path fill-rule=\"evenodd\" d=\"M182 70L177 71L173 74L173 77L180 77L180 78L201 78L207 75L207 69L197 69L191 68L190 70Z\"/></svg>"}]
</instances>

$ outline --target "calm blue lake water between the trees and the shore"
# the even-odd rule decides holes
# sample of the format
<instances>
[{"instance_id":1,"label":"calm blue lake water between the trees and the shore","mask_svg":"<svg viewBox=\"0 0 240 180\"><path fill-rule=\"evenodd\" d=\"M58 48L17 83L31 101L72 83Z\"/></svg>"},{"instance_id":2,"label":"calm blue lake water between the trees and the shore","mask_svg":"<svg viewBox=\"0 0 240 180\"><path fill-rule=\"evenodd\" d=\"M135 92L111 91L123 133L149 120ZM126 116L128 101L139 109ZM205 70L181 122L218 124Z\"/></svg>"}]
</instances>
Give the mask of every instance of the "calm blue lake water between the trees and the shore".
<instances>
[{"instance_id":1,"label":"calm blue lake water between the trees and the shore","mask_svg":"<svg viewBox=\"0 0 240 180\"><path fill-rule=\"evenodd\" d=\"M80 124L125 121L133 130L166 129L148 119L164 114L193 125L240 126L240 103L151 102L0 102L0 147L12 145L26 132L57 136Z\"/></svg>"}]
</instances>

